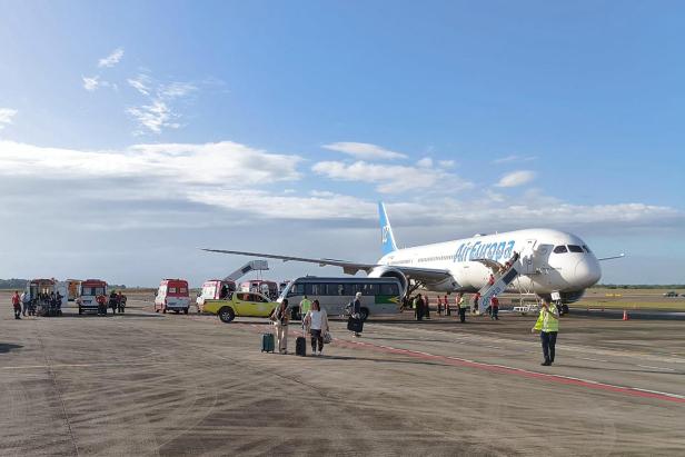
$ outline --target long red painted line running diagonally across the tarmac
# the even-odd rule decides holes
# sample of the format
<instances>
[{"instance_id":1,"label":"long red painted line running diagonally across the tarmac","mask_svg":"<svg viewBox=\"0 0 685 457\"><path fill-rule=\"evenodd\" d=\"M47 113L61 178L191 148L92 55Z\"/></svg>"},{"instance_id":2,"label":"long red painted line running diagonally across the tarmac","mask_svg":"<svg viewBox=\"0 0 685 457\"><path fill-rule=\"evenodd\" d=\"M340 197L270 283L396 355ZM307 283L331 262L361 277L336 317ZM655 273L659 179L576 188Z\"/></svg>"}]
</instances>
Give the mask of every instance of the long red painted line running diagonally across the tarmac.
<instances>
[{"instance_id":1,"label":"long red painted line running diagonally across the tarmac","mask_svg":"<svg viewBox=\"0 0 685 457\"><path fill-rule=\"evenodd\" d=\"M295 334L301 335L301 331L295 331ZM489 372L497 372L497 374L503 374L503 375L514 375L514 376L520 376L520 377L530 378L530 379L540 379L540 380L546 380L550 383L563 384L566 386L584 387L586 389L610 391L615 394L628 395L632 397L653 398L653 399L663 400L663 401L685 404L684 397L672 395L672 394L666 394L666 393L642 390L642 389L636 389L634 387L616 386L612 384L570 378L566 376L560 376L560 375L548 375L545 372L530 371L530 370L523 369L523 368L514 368L514 367L506 367L503 365L485 364L482 361L467 360L467 359L463 359L459 357L438 356L435 354L420 352L420 351L411 350L411 349L399 349L399 348L394 348L391 346L374 345L371 342L366 342L366 341L348 341L348 340L344 340L339 338L334 338L334 342L336 346L343 346L343 347L348 347L348 348L363 347L363 348L375 350L378 352L409 356L409 357L415 357L415 358L419 358L424 360L441 361L444 364L455 366L455 367L476 368L476 369L480 369L480 370L489 371Z\"/></svg>"}]
</instances>

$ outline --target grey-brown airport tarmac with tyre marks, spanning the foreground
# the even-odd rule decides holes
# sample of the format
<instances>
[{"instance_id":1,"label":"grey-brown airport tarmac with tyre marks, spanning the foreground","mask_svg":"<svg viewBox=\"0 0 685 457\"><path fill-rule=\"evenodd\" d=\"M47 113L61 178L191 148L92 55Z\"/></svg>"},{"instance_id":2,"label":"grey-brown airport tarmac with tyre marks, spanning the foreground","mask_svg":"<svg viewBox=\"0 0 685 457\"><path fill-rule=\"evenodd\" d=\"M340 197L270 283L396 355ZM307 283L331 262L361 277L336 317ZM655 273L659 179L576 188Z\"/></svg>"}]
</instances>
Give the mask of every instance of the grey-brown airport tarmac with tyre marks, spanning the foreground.
<instances>
[{"instance_id":1,"label":"grey-brown airport tarmac with tyre marks, spanning the foreground","mask_svg":"<svg viewBox=\"0 0 685 457\"><path fill-rule=\"evenodd\" d=\"M324 357L261 354L262 319L0 317L0 454L682 455L685 322L409 314ZM290 349L297 325L290 327Z\"/></svg>"}]
</instances>

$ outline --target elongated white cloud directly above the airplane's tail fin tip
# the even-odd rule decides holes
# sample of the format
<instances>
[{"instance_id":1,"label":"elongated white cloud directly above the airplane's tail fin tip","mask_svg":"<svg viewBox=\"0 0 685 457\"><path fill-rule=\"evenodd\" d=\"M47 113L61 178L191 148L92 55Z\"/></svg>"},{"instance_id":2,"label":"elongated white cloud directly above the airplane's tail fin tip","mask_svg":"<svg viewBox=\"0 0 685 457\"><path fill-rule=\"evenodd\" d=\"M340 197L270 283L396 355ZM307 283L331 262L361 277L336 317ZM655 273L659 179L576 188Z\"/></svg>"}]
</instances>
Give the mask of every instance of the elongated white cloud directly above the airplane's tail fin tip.
<instances>
[{"instance_id":1,"label":"elongated white cloud directly above the airplane's tail fin tip","mask_svg":"<svg viewBox=\"0 0 685 457\"><path fill-rule=\"evenodd\" d=\"M375 183L381 193L401 193L410 190L435 190L440 183L440 191L454 191L473 187L473 183L457 176L425 167L400 165L380 165L365 161L346 163L340 161L321 161L311 170L330 179Z\"/></svg>"}]
</instances>

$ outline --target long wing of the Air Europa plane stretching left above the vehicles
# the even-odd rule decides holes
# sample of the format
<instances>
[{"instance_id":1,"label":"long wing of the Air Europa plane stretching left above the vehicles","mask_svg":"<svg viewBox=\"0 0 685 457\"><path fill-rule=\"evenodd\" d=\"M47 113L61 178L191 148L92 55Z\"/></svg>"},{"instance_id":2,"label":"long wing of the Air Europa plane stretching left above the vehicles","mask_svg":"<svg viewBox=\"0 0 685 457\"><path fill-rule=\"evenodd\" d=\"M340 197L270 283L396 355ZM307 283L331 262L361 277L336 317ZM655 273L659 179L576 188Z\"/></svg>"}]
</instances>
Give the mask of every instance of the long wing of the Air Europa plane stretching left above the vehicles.
<instances>
[{"instance_id":1,"label":"long wing of the Air Europa plane stretching left above the vehicles","mask_svg":"<svg viewBox=\"0 0 685 457\"><path fill-rule=\"evenodd\" d=\"M319 267L341 267L346 275L355 275L357 271L366 271L369 274L376 267L384 267L378 264L359 264L348 260L339 259L312 259L308 257L294 257L294 256L279 256L276 254L264 252L247 252L239 250L224 250L224 249L202 249L207 252L231 254L236 256L249 256L249 257L264 257L267 259L277 259L282 261L301 261L306 264L316 264ZM416 268L394 265L393 268L400 270L408 279L415 279L424 282L439 282L444 279L450 278L451 274L448 270L436 268Z\"/></svg>"}]
</instances>

